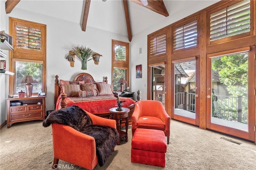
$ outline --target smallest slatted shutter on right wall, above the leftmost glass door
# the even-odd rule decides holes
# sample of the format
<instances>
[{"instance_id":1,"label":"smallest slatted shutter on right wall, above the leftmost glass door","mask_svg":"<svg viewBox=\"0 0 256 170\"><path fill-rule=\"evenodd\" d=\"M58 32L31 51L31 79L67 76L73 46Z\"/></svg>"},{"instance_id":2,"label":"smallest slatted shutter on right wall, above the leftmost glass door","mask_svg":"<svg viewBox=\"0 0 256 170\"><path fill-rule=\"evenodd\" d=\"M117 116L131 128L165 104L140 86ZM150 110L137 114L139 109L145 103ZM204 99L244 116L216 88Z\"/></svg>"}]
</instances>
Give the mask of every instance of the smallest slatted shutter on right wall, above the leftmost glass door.
<instances>
[{"instance_id":1,"label":"smallest slatted shutter on right wall, above the leftmost glass door","mask_svg":"<svg viewBox=\"0 0 256 170\"><path fill-rule=\"evenodd\" d=\"M150 39L150 57L166 53L166 33Z\"/></svg>"}]
</instances>

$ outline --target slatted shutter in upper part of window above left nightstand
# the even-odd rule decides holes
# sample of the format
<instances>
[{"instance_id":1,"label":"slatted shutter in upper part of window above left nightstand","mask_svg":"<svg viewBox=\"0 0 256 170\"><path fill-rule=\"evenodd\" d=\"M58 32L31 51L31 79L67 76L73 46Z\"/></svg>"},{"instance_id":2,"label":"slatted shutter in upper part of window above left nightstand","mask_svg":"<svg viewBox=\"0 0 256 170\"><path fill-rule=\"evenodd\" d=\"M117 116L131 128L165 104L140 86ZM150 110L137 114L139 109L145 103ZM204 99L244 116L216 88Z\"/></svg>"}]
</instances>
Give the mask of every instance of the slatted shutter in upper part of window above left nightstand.
<instances>
[{"instance_id":1,"label":"slatted shutter in upper part of window above left nightstand","mask_svg":"<svg viewBox=\"0 0 256 170\"><path fill-rule=\"evenodd\" d=\"M16 47L17 49L41 51L41 30L17 25Z\"/></svg>"}]
</instances>

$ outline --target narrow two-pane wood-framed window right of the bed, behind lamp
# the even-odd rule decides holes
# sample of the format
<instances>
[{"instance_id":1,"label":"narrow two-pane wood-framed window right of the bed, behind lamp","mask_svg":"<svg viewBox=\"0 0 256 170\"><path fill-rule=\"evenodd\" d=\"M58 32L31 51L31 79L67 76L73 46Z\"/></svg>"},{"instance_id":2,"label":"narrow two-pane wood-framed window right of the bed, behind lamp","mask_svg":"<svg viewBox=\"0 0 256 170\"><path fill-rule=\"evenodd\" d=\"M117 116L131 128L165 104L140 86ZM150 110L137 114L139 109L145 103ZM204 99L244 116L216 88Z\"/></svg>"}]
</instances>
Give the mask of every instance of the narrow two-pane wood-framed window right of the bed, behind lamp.
<instances>
[{"instance_id":1,"label":"narrow two-pane wood-framed window right of the bed, behind lamp","mask_svg":"<svg viewBox=\"0 0 256 170\"><path fill-rule=\"evenodd\" d=\"M129 86L129 43L112 40L112 89L120 91L120 78L126 80L124 89Z\"/></svg>"}]
</instances>

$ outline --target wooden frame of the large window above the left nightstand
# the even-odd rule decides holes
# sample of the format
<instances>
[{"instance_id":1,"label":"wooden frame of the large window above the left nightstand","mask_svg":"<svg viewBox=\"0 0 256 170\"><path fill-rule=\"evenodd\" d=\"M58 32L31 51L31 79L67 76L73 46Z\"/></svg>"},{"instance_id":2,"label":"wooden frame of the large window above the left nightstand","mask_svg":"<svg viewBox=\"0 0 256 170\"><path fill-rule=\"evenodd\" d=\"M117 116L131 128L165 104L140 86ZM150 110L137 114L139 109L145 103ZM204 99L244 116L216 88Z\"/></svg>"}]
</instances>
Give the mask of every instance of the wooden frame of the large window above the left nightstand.
<instances>
[{"instance_id":1,"label":"wooden frame of the large window above the left nightstand","mask_svg":"<svg viewBox=\"0 0 256 170\"><path fill-rule=\"evenodd\" d=\"M41 30L41 51L27 50L27 49L17 49L16 48L16 29L15 26L20 25L30 25L31 27L36 27ZM46 92L46 25L41 23L36 23L32 21L21 20L18 18L9 18L9 30L10 35L13 36L13 47L14 51L10 51L10 62L9 67L11 72L15 72L15 62L34 62L42 63L42 92ZM9 93L14 94L15 92L15 75L9 78ZM37 93L33 93L37 95Z\"/></svg>"}]
</instances>

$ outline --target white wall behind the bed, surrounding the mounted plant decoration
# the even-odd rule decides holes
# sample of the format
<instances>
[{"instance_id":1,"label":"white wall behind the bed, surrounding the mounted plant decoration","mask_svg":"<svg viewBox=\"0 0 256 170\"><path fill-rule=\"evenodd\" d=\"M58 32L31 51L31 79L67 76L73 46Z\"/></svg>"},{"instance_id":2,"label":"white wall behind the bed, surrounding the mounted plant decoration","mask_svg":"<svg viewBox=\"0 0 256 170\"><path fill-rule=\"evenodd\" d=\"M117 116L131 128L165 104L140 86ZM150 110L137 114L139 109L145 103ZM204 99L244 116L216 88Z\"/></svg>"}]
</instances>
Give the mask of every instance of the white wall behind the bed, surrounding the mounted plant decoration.
<instances>
[{"instance_id":1,"label":"white wall behind the bed, surrounding the mounted plant decoration","mask_svg":"<svg viewBox=\"0 0 256 170\"><path fill-rule=\"evenodd\" d=\"M128 37L117 35L100 29L86 27L86 31L82 31L79 24L59 20L53 17L42 16L39 14L31 14L27 11L16 9L11 14L5 14L5 3L1 3L1 25L0 30L6 30L9 33L8 17L19 18L22 20L34 21L47 25L47 44L46 44L46 109L54 109L54 80L55 75L59 76L59 80L70 80L80 72L87 72L94 77L97 82L103 81L105 76L111 84L111 49L112 39L119 41L128 41ZM74 45L86 45L93 51L100 53L100 63L95 65L93 60L88 61L87 70L81 70L81 62L76 58L74 67L65 59L68 51ZM8 57L6 57L8 61ZM1 81L1 120L2 124L6 119L6 101L8 97L8 76L2 75Z\"/></svg>"}]
</instances>

